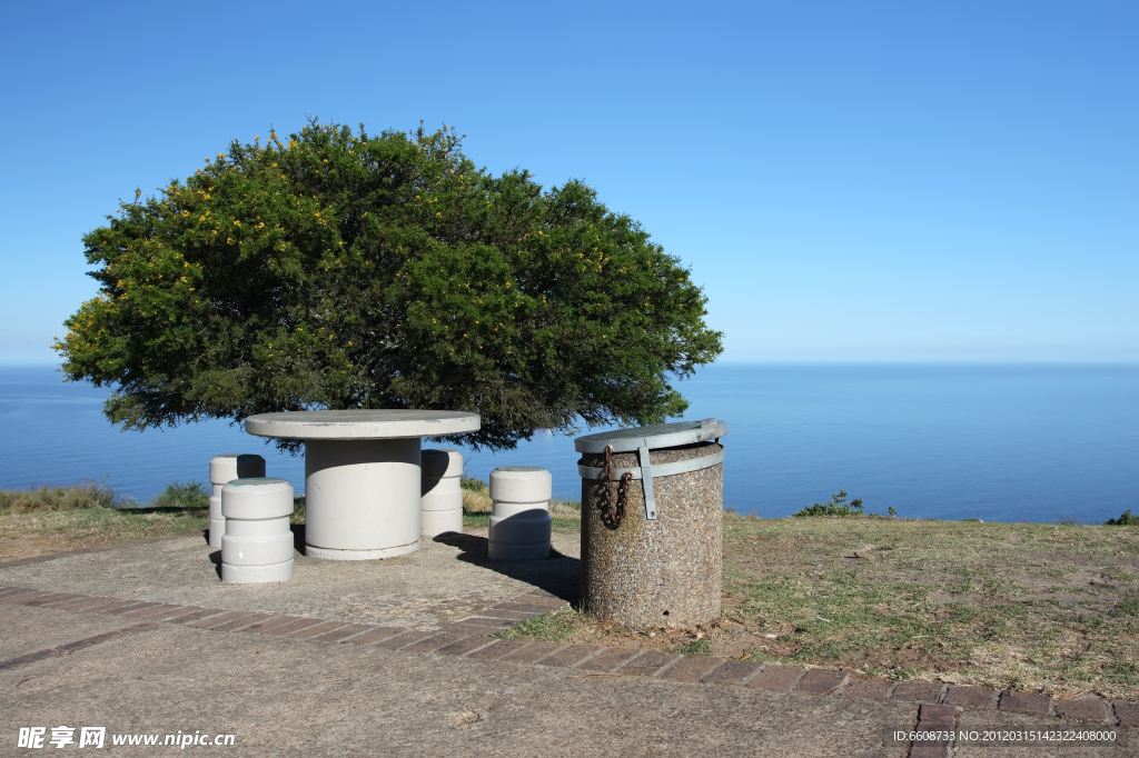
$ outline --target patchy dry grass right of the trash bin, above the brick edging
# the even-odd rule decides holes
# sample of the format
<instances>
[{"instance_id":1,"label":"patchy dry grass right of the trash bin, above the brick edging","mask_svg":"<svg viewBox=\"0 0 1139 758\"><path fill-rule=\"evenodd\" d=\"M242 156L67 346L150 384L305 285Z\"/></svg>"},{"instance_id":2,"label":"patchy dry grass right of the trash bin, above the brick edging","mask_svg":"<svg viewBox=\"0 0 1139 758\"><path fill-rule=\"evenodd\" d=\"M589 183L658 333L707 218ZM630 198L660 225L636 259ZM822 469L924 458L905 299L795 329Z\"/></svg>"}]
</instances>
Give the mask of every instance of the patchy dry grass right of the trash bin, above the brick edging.
<instances>
[{"instance_id":1,"label":"patchy dry grass right of the trash bin, above the brick edging","mask_svg":"<svg viewBox=\"0 0 1139 758\"><path fill-rule=\"evenodd\" d=\"M1139 698L1139 528L724 519L723 617L624 629L563 611L508 632Z\"/></svg>"}]
</instances>

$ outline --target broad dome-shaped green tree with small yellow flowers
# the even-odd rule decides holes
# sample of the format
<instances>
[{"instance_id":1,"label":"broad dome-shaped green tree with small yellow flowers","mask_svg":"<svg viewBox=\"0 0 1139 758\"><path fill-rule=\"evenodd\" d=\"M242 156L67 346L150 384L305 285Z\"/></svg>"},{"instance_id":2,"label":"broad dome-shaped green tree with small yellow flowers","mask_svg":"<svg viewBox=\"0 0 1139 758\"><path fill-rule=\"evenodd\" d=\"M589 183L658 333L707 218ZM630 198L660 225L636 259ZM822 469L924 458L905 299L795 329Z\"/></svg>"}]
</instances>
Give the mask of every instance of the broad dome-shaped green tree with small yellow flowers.
<instances>
[{"instance_id":1,"label":"broad dome-shaped green tree with small yellow flowers","mask_svg":"<svg viewBox=\"0 0 1139 758\"><path fill-rule=\"evenodd\" d=\"M99 295L56 345L128 429L306 409L482 415L475 446L653 423L722 351L706 298L577 181L493 176L443 127L236 140L83 238Z\"/></svg>"}]
</instances>

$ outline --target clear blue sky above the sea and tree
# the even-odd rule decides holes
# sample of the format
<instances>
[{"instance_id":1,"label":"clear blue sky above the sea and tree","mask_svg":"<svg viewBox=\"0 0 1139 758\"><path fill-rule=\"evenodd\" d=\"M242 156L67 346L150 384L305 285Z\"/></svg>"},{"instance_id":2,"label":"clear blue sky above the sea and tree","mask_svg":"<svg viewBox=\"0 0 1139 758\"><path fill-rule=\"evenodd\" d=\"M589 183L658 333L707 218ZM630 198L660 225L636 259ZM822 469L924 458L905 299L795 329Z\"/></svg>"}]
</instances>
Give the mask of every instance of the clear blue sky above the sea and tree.
<instances>
[{"instance_id":1,"label":"clear blue sky above the sea and tree","mask_svg":"<svg viewBox=\"0 0 1139 758\"><path fill-rule=\"evenodd\" d=\"M0 363L118 198L305 114L445 122L693 269L724 361L1139 361L1139 5L13 3Z\"/></svg>"}]
</instances>

